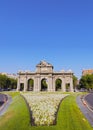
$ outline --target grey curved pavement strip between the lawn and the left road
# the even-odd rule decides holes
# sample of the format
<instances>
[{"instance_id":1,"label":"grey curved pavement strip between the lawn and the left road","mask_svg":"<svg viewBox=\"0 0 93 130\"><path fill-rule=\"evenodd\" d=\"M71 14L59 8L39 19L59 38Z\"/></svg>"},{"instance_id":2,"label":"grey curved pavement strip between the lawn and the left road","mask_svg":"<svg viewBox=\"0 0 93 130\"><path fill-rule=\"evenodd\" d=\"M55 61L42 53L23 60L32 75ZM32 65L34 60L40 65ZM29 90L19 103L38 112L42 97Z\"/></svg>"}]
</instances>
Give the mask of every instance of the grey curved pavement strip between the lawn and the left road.
<instances>
[{"instance_id":1,"label":"grey curved pavement strip between the lawn and the left road","mask_svg":"<svg viewBox=\"0 0 93 130\"><path fill-rule=\"evenodd\" d=\"M9 105L12 102L12 98L9 95L7 95L7 98L7 101L0 107L0 116L2 116L7 111Z\"/></svg>"}]
</instances>

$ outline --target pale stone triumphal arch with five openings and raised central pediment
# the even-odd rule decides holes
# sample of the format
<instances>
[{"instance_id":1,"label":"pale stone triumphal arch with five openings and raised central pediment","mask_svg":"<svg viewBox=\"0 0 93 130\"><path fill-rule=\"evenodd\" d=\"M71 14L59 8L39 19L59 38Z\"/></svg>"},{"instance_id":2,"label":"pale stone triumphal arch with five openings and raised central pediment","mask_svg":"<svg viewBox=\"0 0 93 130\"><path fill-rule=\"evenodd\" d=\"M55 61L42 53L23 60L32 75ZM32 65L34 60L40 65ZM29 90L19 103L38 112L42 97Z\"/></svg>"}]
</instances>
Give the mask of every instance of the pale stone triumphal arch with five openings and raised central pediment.
<instances>
[{"instance_id":1,"label":"pale stone triumphal arch with five openings and raised central pediment","mask_svg":"<svg viewBox=\"0 0 93 130\"><path fill-rule=\"evenodd\" d=\"M17 91L71 91L73 92L73 72L59 71L55 72L53 66L41 61L36 65L36 71L19 71Z\"/></svg>"}]
</instances>

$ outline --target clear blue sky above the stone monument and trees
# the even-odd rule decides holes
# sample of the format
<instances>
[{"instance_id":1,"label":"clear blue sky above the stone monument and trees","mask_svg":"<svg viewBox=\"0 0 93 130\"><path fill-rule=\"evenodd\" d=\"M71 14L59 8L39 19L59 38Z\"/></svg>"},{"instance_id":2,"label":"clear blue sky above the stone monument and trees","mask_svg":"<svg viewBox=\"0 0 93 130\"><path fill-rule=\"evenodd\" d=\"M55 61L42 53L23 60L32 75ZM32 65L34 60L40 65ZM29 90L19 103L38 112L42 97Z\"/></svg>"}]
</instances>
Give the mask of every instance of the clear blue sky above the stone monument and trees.
<instances>
[{"instance_id":1,"label":"clear blue sky above the stone monument and trees","mask_svg":"<svg viewBox=\"0 0 93 130\"><path fill-rule=\"evenodd\" d=\"M93 68L93 0L0 1L0 72L41 60L77 77Z\"/></svg>"}]
</instances>

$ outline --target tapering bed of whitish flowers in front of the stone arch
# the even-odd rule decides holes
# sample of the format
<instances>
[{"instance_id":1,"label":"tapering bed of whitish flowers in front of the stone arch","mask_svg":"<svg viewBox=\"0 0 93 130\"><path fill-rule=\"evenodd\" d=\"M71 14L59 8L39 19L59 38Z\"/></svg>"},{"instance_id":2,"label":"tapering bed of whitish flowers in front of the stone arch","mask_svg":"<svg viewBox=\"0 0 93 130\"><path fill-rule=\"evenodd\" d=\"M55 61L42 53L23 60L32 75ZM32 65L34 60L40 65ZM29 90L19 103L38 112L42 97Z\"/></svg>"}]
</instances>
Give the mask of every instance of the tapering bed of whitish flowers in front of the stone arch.
<instances>
[{"instance_id":1,"label":"tapering bed of whitish flowers in front of the stone arch","mask_svg":"<svg viewBox=\"0 0 93 130\"><path fill-rule=\"evenodd\" d=\"M67 96L66 94L23 94L27 100L34 124L53 125L59 103Z\"/></svg>"}]
</instances>

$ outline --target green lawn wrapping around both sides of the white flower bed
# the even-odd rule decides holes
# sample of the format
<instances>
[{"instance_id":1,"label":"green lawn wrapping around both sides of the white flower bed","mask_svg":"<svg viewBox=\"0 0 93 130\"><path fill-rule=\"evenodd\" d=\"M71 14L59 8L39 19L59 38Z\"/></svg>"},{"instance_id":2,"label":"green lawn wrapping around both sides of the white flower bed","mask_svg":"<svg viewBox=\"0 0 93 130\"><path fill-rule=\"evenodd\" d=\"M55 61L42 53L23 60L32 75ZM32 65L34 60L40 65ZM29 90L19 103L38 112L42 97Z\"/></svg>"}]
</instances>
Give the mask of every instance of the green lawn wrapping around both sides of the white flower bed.
<instances>
[{"instance_id":1,"label":"green lawn wrapping around both sides of the white flower bed","mask_svg":"<svg viewBox=\"0 0 93 130\"><path fill-rule=\"evenodd\" d=\"M76 104L77 94L66 97L59 108L57 125L31 126L30 115L19 93L10 93L13 102L6 114L0 117L0 130L93 130Z\"/></svg>"}]
</instances>

